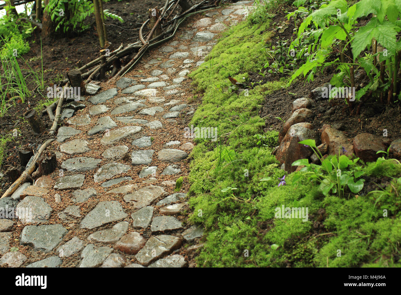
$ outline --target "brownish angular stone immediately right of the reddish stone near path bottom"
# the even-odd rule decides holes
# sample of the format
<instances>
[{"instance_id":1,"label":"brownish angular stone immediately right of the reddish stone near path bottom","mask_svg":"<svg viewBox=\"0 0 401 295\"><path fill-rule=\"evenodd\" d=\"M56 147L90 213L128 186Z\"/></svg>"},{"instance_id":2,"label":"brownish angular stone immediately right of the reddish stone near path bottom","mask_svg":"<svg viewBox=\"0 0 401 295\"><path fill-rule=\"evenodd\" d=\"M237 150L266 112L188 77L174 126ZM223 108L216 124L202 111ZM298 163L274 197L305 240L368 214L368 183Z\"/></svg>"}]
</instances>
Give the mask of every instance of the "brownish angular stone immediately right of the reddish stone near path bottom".
<instances>
[{"instance_id":1,"label":"brownish angular stone immediately right of the reddish stone near path bottom","mask_svg":"<svg viewBox=\"0 0 401 295\"><path fill-rule=\"evenodd\" d=\"M180 238L176 236L165 234L152 236L149 238L148 242L146 242L144 248L135 255L135 258L140 264L147 266L154 260L178 249L181 243Z\"/></svg>"}]
</instances>

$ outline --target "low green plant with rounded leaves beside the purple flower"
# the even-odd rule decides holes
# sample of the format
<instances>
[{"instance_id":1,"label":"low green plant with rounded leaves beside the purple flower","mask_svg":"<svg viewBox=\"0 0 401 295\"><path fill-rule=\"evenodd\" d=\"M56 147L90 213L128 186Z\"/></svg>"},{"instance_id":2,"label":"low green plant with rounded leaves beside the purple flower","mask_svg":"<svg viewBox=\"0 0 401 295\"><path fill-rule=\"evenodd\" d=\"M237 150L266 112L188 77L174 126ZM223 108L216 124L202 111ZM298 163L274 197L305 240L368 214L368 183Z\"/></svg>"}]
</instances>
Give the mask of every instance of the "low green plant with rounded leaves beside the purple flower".
<instances>
[{"instance_id":1,"label":"low green plant with rounded leaves beside the purple flower","mask_svg":"<svg viewBox=\"0 0 401 295\"><path fill-rule=\"evenodd\" d=\"M338 158L332 156L322 159L323 156L313 139L302 140L299 144L310 146L319 158L321 165L309 163L308 159L294 161L292 166L304 165L305 167L301 169L301 172L304 173L295 176L293 182L299 181L302 176L307 175L309 179L320 182L319 189L325 196L328 196L331 191L338 197L343 197L345 187L348 187L352 193L358 193L363 189L365 179L360 177L365 172L362 167L356 165L359 158L351 160L346 155L340 155L340 151L338 151Z\"/></svg>"}]
</instances>

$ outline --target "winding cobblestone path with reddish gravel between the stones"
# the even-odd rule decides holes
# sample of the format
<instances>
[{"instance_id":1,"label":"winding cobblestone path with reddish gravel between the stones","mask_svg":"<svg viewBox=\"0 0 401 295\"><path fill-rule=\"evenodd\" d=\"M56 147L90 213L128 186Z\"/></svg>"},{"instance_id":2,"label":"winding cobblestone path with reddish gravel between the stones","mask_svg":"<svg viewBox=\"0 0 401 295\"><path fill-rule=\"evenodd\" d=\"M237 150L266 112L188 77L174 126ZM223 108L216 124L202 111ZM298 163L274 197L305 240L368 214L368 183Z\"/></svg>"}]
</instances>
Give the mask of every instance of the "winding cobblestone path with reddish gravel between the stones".
<instances>
[{"instance_id":1,"label":"winding cobblestone path with reddish gravel between the stones","mask_svg":"<svg viewBox=\"0 0 401 295\"><path fill-rule=\"evenodd\" d=\"M59 171L0 200L20 212L0 219L0 267L194 266L203 229L186 224L188 185L174 193L194 146L186 75L250 5L192 16L124 77L65 106L50 147Z\"/></svg>"}]
</instances>

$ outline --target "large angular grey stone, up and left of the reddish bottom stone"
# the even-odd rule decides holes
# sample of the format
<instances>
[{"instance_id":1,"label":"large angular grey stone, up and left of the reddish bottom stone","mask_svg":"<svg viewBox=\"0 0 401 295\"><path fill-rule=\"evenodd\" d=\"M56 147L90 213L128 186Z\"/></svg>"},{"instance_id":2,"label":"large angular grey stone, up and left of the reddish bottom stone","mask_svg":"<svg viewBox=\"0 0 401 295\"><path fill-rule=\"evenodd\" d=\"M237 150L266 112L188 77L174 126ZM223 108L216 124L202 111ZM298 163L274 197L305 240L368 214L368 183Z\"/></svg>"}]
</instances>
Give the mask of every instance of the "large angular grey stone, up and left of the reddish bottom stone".
<instances>
[{"instance_id":1,"label":"large angular grey stone, up and left of the reddish bottom stone","mask_svg":"<svg viewBox=\"0 0 401 295\"><path fill-rule=\"evenodd\" d=\"M81 228L96 228L109 222L121 220L127 216L128 214L124 212L119 202L102 201L83 218Z\"/></svg>"}]
</instances>

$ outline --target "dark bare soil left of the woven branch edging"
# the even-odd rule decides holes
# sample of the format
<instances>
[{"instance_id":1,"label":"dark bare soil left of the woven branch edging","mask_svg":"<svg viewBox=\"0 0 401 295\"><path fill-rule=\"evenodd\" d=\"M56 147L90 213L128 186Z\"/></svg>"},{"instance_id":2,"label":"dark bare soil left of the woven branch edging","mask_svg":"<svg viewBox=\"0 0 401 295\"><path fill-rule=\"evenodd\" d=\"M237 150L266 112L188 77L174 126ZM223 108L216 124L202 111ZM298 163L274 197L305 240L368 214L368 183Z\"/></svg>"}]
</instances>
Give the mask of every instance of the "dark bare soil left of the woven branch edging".
<instances>
[{"instance_id":1,"label":"dark bare soil left of the woven branch edging","mask_svg":"<svg viewBox=\"0 0 401 295\"><path fill-rule=\"evenodd\" d=\"M107 18L106 30L111 48L117 48L121 43L125 45L134 43L138 37L138 28L148 18L150 8L164 5L164 0L124 0L118 2L111 0L103 4L104 9L121 16L124 23L118 20ZM95 29L95 18L88 17L85 22L91 27L82 33L72 33L68 37L54 37L42 41L43 71L45 88L59 84L65 78L65 73L70 69L76 69L99 56L99 39ZM37 29L29 40L30 51L23 56L32 69L41 69L41 32ZM20 61L21 69L27 68L24 62ZM28 88L32 95L24 103L17 101L15 106L8 109L8 113L0 118L0 136L12 134L12 130L18 130L18 136L8 142L4 151L4 159L1 171L9 166L17 167L19 163L17 149L20 147L31 146L36 150L47 139L47 133L52 122L47 116L43 116L43 121L47 130L42 134L35 134L30 126L24 121L24 113L35 107L41 100L47 99L46 91L41 94L34 91L36 85L34 81L27 79ZM2 174L0 174L1 176ZM0 178L0 195L10 186L7 177Z\"/></svg>"}]
</instances>

